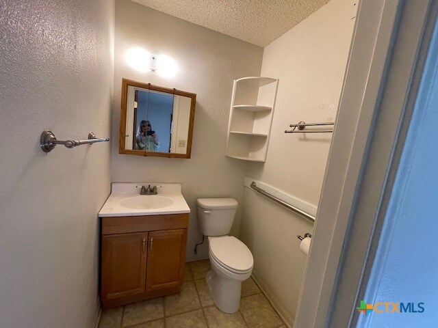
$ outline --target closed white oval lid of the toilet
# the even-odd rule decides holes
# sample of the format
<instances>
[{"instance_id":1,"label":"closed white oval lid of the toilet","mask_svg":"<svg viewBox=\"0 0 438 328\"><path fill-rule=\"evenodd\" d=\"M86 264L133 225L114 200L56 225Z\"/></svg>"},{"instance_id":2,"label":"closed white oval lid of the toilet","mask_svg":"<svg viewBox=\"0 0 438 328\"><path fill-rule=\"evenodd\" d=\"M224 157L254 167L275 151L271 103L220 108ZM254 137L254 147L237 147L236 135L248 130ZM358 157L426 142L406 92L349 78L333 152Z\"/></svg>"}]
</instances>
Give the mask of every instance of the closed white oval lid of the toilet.
<instances>
[{"instance_id":1,"label":"closed white oval lid of the toilet","mask_svg":"<svg viewBox=\"0 0 438 328\"><path fill-rule=\"evenodd\" d=\"M242 241L233 236L210 237L211 255L231 271L253 269L253 254Z\"/></svg>"}]
</instances>

